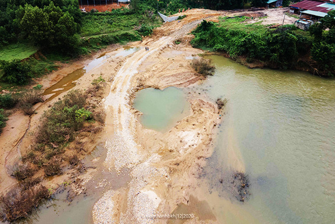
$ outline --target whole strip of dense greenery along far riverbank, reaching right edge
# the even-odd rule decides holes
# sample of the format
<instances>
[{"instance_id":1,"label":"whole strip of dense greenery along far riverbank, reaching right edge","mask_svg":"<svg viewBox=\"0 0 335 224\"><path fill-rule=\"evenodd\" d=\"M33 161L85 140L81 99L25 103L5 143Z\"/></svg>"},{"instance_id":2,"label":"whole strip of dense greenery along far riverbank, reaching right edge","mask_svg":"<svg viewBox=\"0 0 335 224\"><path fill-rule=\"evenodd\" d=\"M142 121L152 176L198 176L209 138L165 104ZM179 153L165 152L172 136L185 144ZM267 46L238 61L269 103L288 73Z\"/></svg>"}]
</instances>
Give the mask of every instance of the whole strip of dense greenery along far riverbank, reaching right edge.
<instances>
[{"instance_id":1,"label":"whole strip of dense greenery along far riverbank, reaching right edge","mask_svg":"<svg viewBox=\"0 0 335 224\"><path fill-rule=\"evenodd\" d=\"M311 28L313 36L294 25L271 30L258 23L246 24L247 17L221 18L219 23L203 21L193 32L195 38L191 43L195 47L227 52L233 58L246 57L247 62L256 59L279 69L304 66L311 54L318 62L319 74L332 75L335 42L331 24L335 23L326 22L329 18L334 15L325 18L322 25ZM324 31L325 28L330 31Z\"/></svg>"}]
</instances>

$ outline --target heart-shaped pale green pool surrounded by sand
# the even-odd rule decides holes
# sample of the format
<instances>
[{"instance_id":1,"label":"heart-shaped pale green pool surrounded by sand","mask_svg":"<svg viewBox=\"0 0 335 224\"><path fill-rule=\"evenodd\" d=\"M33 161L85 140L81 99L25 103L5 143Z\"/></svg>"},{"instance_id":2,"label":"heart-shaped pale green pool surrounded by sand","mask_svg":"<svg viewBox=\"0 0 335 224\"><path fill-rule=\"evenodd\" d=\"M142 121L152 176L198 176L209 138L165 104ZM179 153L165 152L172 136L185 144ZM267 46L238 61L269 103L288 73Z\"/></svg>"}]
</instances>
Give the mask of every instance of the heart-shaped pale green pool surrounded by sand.
<instances>
[{"instance_id":1,"label":"heart-shaped pale green pool surrounded by sand","mask_svg":"<svg viewBox=\"0 0 335 224\"><path fill-rule=\"evenodd\" d=\"M134 108L143 113L140 122L144 127L165 132L189 114L190 104L178 88L147 88L137 93Z\"/></svg>"}]
</instances>

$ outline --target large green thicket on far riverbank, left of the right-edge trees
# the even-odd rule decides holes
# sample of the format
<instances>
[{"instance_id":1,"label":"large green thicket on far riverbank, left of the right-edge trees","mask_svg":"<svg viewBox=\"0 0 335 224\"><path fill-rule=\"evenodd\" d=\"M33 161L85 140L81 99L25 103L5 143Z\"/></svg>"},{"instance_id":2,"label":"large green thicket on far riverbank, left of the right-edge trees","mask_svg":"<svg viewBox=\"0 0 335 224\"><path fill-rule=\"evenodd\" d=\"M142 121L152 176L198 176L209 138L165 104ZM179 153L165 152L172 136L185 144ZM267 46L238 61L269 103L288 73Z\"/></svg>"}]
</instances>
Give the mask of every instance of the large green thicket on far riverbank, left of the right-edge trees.
<instances>
[{"instance_id":1,"label":"large green thicket on far riverbank, left of the right-edge trees","mask_svg":"<svg viewBox=\"0 0 335 224\"><path fill-rule=\"evenodd\" d=\"M294 26L268 30L262 25L241 23L245 17L223 18L222 23L203 21L193 34L194 47L225 51L231 57L245 55L267 62L272 68L293 68L299 57L308 52L310 42Z\"/></svg>"}]
</instances>

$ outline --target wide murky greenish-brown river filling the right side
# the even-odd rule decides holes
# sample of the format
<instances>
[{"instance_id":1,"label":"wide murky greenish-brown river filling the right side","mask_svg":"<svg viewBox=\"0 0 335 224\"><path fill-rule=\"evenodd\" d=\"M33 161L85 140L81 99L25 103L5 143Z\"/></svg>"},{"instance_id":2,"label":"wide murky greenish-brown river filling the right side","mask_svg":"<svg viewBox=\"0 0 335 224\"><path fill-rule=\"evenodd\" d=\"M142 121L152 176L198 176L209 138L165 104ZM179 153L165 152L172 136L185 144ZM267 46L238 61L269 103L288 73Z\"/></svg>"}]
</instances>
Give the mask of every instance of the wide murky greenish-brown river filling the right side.
<instances>
[{"instance_id":1,"label":"wide murky greenish-brown river filling the right side","mask_svg":"<svg viewBox=\"0 0 335 224\"><path fill-rule=\"evenodd\" d=\"M229 100L202 176L201 191L217 219L334 223L335 80L210 58L215 75L192 90ZM219 182L234 170L249 174L251 196L244 203Z\"/></svg>"}]
</instances>

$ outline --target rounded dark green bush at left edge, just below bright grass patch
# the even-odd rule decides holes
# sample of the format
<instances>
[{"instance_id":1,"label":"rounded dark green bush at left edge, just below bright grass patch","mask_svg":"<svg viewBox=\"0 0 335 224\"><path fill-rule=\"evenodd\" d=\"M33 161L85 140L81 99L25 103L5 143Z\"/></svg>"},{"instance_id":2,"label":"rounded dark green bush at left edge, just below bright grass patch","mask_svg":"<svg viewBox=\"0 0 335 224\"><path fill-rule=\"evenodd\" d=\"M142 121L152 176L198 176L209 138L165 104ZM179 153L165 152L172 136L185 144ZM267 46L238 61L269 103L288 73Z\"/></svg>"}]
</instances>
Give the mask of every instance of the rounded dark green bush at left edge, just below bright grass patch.
<instances>
[{"instance_id":1,"label":"rounded dark green bush at left edge, just below bright grass patch","mask_svg":"<svg viewBox=\"0 0 335 224\"><path fill-rule=\"evenodd\" d=\"M32 68L27 62L21 62L18 59L10 62L2 62L1 68L4 72L2 80L7 83L16 83L18 85L27 84L33 77Z\"/></svg>"}]
</instances>

